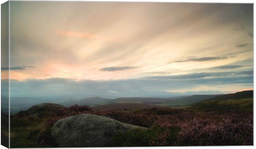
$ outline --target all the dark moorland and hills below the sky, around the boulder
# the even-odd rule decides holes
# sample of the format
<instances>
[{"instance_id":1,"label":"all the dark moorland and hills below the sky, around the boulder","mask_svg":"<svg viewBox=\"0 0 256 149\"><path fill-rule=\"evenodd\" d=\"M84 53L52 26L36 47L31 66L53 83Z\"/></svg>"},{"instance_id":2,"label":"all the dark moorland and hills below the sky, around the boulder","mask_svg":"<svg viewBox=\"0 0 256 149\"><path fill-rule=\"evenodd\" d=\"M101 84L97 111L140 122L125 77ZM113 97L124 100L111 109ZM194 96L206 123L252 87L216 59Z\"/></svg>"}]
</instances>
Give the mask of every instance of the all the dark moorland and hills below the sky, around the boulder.
<instances>
[{"instance_id":1,"label":"all the dark moorland and hills below the sky, around the boulder","mask_svg":"<svg viewBox=\"0 0 256 149\"><path fill-rule=\"evenodd\" d=\"M253 90L249 90L226 95L90 97L62 104L37 103L10 116L10 147L63 147L52 132L55 123L81 114L136 125L136 129L108 136L108 144L102 146L253 145ZM2 126L7 125L8 116L3 111L1 116L6 120L2 121ZM61 131L65 131L64 128ZM93 126L90 131L96 128ZM70 133L74 133L72 129L78 128L72 126ZM7 132L2 132L1 136L5 139ZM79 139L86 141L83 137Z\"/></svg>"}]
</instances>

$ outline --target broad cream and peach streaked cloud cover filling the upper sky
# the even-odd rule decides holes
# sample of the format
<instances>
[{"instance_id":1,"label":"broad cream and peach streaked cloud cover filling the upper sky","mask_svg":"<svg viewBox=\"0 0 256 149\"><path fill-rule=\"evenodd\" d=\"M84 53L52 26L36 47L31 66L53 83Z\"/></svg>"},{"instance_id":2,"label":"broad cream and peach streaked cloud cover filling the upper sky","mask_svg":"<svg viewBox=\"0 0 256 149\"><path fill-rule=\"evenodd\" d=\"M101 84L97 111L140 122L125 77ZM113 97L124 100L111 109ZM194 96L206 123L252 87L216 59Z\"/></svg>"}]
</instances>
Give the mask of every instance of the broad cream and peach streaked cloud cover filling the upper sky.
<instances>
[{"instance_id":1,"label":"broad cream and peach streaked cloud cover filling the upper sky","mask_svg":"<svg viewBox=\"0 0 256 149\"><path fill-rule=\"evenodd\" d=\"M20 73L13 75L16 79L48 78L47 75L44 76L48 72L55 77L67 77L68 75L60 76L63 70L71 70L75 74L83 73L80 76L70 74L72 78L102 79L100 74L103 71L86 70L92 68L99 70L105 67L102 64L143 66L143 69L133 69L138 71L125 75L121 73L126 71L114 71L120 74L114 76L108 74L104 79L149 76L150 74L142 73L170 72L170 66L165 66L168 59L186 60L187 57L194 56L194 59L190 57L187 61L211 62L209 57L208 59L202 57L230 57L232 55L225 54L227 49L225 39L230 39L229 45L233 47L240 44L241 38L244 40L242 43L253 43L251 38L244 36L243 31L232 31L233 28L243 26L252 33L252 4L42 3L44 4L13 2L10 9L14 22L14 25L10 26L13 41L12 66L29 64L37 66L33 71L24 72L22 78L19 77ZM69 9L66 9L67 7ZM247 11L243 10L248 10L251 15L244 14ZM33 34L28 33L28 30ZM246 49L234 48L228 52L241 52ZM252 48L248 51L253 52ZM251 57L250 53L239 55L235 59ZM212 66L215 65L209 67ZM175 66L177 67L180 70L175 72L189 71L185 65ZM197 67L199 66L193 65L189 69ZM38 73L41 70L45 73ZM99 74L95 75L95 73Z\"/></svg>"}]
</instances>

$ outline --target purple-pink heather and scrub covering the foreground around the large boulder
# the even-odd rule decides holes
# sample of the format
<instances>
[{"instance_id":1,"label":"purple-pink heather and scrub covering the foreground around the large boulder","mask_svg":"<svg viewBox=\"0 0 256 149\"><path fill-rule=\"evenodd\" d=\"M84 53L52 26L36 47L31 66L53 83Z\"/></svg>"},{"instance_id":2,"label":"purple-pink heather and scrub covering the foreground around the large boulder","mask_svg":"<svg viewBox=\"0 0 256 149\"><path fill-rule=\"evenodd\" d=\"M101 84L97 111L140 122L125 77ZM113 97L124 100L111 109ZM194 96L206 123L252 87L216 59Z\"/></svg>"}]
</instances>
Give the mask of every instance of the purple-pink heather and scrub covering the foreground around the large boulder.
<instances>
[{"instance_id":1,"label":"purple-pink heather and scrub covering the foreground around the large boulder","mask_svg":"<svg viewBox=\"0 0 256 149\"><path fill-rule=\"evenodd\" d=\"M74 105L40 116L28 111L12 116L11 147L57 147L50 135L52 125L61 118L78 114L107 116L148 128L117 134L111 140L113 147L253 145L252 112L195 112L171 108L92 110L88 106Z\"/></svg>"}]
</instances>

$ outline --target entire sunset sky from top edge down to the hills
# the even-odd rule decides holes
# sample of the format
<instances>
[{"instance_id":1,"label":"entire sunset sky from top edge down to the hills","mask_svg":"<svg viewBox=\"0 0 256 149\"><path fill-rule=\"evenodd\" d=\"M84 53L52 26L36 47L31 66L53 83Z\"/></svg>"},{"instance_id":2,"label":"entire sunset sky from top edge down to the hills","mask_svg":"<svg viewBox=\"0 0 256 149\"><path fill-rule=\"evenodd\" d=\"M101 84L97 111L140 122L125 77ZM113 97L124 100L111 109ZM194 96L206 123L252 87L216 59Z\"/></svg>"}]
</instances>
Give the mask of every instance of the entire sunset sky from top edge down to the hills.
<instances>
[{"instance_id":1,"label":"entire sunset sky from top edge down to the hills","mask_svg":"<svg viewBox=\"0 0 256 149\"><path fill-rule=\"evenodd\" d=\"M253 89L252 4L11 1L10 39L11 96Z\"/></svg>"}]
</instances>

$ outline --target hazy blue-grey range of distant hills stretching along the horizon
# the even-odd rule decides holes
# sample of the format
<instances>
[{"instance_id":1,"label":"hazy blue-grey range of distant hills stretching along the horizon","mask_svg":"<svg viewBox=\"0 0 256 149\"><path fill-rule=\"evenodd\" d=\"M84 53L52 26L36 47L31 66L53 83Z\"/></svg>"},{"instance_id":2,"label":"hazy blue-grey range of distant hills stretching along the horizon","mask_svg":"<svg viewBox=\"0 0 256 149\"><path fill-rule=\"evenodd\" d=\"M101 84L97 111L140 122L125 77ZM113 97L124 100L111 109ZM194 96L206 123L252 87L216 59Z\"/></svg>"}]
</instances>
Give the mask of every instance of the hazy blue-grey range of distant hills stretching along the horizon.
<instances>
[{"instance_id":1,"label":"hazy blue-grey range of distant hills stretching along the horizon","mask_svg":"<svg viewBox=\"0 0 256 149\"><path fill-rule=\"evenodd\" d=\"M215 95L192 95L171 98L154 98L154 97L121 97L108 99L101 97L87 97L83 99L74 99L73 97L11 97L10 111L15 114L21 110L40 103L55 103L63 106L73 106L75 104L83 106L102 106L107 104L150 104L157 106L185 106L196 102L211 99ZM5 113L8 109L8 97L1 96L1 110ZM128 105L127 105L128 106Z\"/></svg>"}]
</instances>

